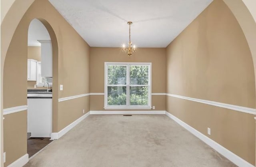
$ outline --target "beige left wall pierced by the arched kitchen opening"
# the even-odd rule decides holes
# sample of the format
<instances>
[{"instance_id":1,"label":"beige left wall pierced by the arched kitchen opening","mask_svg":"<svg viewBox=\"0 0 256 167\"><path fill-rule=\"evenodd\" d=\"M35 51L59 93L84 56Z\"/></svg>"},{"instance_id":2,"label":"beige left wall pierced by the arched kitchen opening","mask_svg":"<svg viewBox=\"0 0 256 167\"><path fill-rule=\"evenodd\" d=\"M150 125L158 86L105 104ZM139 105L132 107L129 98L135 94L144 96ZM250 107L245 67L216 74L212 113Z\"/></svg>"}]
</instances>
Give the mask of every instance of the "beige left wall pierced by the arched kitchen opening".
<instances>
[{"instance_id":1,"label":"beige left wall pierced by the arched kitchen opening","mask_svg":"<svg viewBox=\"0 0 256 167\"><path fill-rule=\"evenodd\" d=\"M27 38L28 26L34 18L40 18L52 40L52 129L53 132L58 132L81 117L84 114L83 109L85 109L85 113L89 111L90 99L88 97L59 103L58 98L89 93L90 48L48 0L35 0L18 24L10 42L4 63L3 107L9 108L27 104L27 58L30 54ZM58 90L59 84L64 85L63 91ZM23 114L24 119L22 117L20 121L16 121L20 114ZM5 117L8 117L8 121L4 121L4 152L6 152L4 166L7 166L26 153L27 122L26 112L23 111L5 115ZM13 142L12 139L20 133L25 136L24 140ZM12 146L10 147L10 145Z\"/></svg>"}]
</instances>

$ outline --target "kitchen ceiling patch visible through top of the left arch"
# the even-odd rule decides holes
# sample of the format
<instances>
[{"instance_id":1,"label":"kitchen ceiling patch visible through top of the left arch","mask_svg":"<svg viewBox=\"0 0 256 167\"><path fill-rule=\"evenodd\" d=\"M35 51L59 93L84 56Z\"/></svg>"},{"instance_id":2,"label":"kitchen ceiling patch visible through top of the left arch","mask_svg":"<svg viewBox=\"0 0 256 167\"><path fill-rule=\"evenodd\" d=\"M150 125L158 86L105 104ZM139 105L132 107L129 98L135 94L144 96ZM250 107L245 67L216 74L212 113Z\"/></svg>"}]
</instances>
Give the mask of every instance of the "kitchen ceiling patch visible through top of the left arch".
<instances>
[{"instance_id":1,"label":"kitchen ceiling patch visible through top of the left arch","mask_svg":"<svg viewBox=\"0 0 256 167\"><path fill-rule=\"evenodd\" d=\"M37 19L33 19L28 27L28 46L41 46L37 40L50 40L50 35L44 24Z\"/></svg>"}]
</instances>

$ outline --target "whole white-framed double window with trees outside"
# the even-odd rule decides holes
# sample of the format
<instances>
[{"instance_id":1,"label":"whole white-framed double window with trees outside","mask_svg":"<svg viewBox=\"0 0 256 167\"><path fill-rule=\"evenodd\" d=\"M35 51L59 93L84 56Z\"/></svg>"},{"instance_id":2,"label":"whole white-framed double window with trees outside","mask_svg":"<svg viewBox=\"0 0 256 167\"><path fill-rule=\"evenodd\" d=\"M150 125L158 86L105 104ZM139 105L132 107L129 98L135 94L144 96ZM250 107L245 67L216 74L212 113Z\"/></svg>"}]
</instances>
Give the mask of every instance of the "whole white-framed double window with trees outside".
<instances>
[{"instance_id":1,"label":"whole white-framed double window with trees outside","mask_svg":"<svg viewBox=\"0 0 256 167\"><path fill-rule=\"evenodd\" d=\"M151 63L105 62L105 109L151 108Z\"/></svg>"}]
</instances>

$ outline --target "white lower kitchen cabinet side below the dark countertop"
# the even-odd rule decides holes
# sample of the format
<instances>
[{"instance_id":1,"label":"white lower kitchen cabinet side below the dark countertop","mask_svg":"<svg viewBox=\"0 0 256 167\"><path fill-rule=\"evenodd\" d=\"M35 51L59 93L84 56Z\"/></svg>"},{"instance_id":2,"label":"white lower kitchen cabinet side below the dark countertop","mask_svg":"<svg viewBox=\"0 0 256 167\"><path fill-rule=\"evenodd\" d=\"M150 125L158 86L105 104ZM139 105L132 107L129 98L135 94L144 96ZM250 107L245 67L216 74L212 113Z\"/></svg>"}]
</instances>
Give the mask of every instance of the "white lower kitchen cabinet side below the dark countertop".
<instances>
[{"instance_id":1,"label":"white lower kitchen cabinet side below the dark countertop","mask_svg":"<svg viewBox=\"0 0 256 167\"><path fill-rule=\"evenodd\" d=\"M28 98L28 132L31 137L51 137L52 99Z\"/></svg>"}]
</instances>

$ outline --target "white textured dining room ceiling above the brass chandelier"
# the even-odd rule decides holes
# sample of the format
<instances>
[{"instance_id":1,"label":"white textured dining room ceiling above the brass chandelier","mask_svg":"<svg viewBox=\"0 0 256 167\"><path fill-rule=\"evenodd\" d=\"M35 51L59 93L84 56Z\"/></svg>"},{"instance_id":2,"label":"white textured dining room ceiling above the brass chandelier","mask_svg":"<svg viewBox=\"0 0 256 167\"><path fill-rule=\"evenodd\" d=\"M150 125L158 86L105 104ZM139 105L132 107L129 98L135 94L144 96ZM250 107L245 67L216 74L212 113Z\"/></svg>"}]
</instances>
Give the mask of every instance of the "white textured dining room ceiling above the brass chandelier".
<instances>
[{"instance_id":1,"label":"white textured dining room ceiling above the brass chandelier","mask_svg":"<svg viewBox=\"0 0 256 167\"><path fill-rule=\"evenodd\" d=\"M94 47L168 46L212 0L49 0Z\"/></svg>"}]
</instances>

